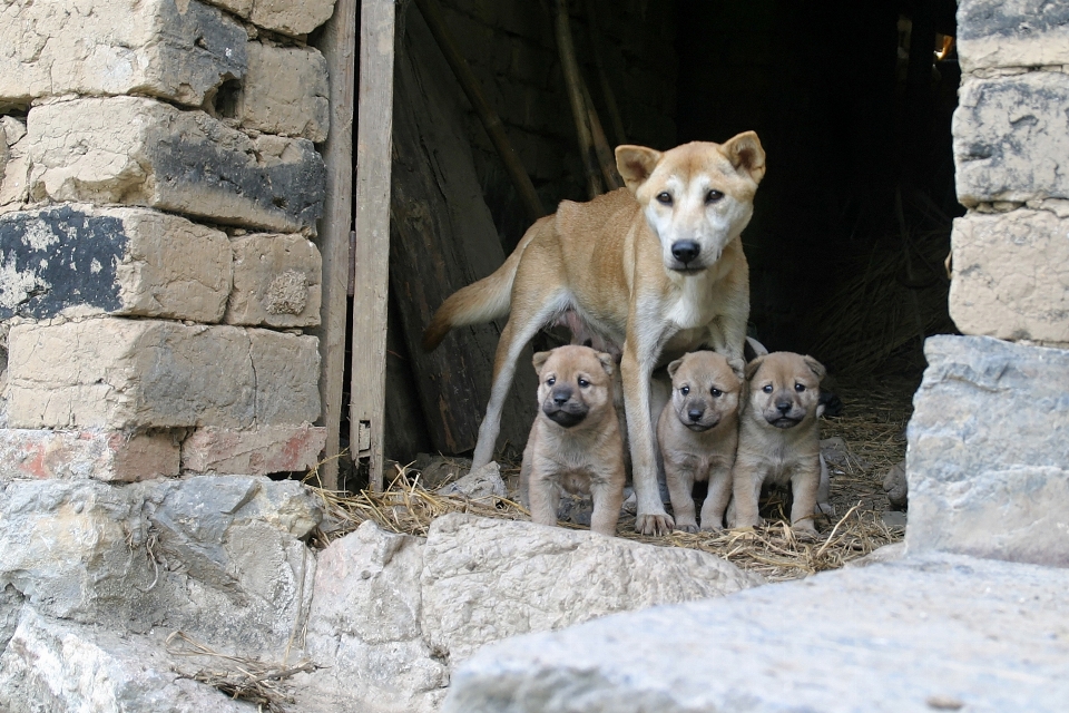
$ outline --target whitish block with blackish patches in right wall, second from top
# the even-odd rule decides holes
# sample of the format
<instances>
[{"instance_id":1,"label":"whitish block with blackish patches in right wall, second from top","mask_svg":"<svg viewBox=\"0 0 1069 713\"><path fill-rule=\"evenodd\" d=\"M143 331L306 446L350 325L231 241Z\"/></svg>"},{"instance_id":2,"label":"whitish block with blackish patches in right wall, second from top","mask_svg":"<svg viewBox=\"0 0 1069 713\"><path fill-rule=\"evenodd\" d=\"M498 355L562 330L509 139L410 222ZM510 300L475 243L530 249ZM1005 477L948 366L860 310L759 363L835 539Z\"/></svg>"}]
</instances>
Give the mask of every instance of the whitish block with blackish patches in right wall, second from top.
<instances>
[{"instance_id":1,"label":"whitish block with blackish patches in right wall, second from top","mask_svg":"<svg viewBox=\"0 0 1069 713\"><path fill-rule=\"evenodd\" d=\"M958 201L1069 198L1069 75L967 80L954 111Z\"/></svg>"}]
</instances>

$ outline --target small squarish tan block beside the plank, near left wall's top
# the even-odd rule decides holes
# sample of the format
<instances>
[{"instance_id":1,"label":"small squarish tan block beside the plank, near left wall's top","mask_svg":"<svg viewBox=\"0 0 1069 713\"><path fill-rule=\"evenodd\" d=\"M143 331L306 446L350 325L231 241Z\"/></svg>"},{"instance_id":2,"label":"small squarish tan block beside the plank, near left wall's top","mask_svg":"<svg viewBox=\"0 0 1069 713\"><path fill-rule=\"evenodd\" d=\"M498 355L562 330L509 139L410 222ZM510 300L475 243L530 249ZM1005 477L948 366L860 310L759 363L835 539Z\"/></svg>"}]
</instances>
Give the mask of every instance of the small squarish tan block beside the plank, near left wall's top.
<instances>
[{"instance_id":1,"label":"small squarish tan block beside the plank, near left wall's top","mask_svg":"<svg viewBox=\"0 0 1069 713\"><path fill-rule=\"evenodd\" d=\"M313 47L248 43L248 74L235 98L242 126L326 140L331 126L326 60Z\"/></svg>"}]
</instances>

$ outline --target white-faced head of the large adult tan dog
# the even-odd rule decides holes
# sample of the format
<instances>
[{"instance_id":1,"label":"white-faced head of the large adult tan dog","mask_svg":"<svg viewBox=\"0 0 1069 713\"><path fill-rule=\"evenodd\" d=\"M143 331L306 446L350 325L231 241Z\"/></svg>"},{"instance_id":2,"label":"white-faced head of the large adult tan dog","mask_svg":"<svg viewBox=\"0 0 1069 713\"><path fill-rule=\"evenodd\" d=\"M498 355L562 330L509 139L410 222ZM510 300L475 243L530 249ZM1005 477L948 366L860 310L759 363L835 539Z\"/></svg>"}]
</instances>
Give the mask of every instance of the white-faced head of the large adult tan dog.
<instances>
[{"instance_id":1,"label":"white-faced head of the large adult tan dog","mask_svg":"<svg viewBox=\"0 0 1069 713\"><path fill-rule=\"evenodd\" d=\"M765 152L745 131L725 144L693 141L664 153L618 146L616 165L660 240L665 267L697 274L749 223Z\"/></svg>"}]
</instances>

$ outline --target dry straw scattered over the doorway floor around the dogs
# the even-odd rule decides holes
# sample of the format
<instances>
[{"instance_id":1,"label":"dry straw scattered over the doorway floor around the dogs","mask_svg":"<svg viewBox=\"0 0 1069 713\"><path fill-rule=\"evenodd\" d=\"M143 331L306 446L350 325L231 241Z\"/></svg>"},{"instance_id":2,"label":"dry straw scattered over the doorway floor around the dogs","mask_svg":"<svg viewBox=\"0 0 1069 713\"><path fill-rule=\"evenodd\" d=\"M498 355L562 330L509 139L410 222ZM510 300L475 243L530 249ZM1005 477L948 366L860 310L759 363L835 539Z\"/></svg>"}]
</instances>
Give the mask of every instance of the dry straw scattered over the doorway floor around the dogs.
<instances>
[{"instance_id":1,"label":"dry straw scattered over the doorway floor around the dogs","mask_svg":"<svg viewBox=\"0 0 1069 713\"><path fill-rule=\"evenodd\" d=\"M758 573L769 582L837 569L877 547L900 541L902 528L887 527L881 518L887 509L883 473L905 455L902 433L914 388L914 382L902 379L842 384L840 398L845 416L825 419L822 423L823 438L840 437L847 445L843 461L830 465L832 504L840 517L817 522L822 531L817 541L803 541L794 536L784 517L787 505L777 494L763 500L762 514L768 524L754 530L694 535L676 531L667 537L647 537L634 531L631 516L620 518L617 535L661 547L700 549ZM514 484L519 463L502 463L501 470L506 481ZM326 521L331 524L314 536L313 541L320 547L367 520L393 533L425 536L431 521L447 512L530 519L522 506L507 498L469 499L431 492L421 486L418 471L400 466L395 467L394 478L383 492L349 495L322 488L314 490L323 499ZM568 522L561 525L585 529Z\"/></svg>"}]
</instances>

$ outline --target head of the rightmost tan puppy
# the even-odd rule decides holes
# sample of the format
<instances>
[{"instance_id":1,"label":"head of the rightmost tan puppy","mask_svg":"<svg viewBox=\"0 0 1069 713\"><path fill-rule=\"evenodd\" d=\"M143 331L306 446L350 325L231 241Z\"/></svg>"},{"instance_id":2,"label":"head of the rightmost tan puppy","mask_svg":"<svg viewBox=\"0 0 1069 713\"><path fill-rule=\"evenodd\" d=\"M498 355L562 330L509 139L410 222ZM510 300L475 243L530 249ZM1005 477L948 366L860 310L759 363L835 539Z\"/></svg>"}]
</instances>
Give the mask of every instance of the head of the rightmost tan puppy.
<instances>
[{"instance_id":1,"label":"head of the rightmost tan puppy","mask_svg":"<svg viewBox=\"0 0 1069 713\"><path fill-rule=\"evenodd\" d=\"M812 356L773 352L746 364L754 420L779 429L816 419L824 367Z\"/></svg>"}]
</instances>

